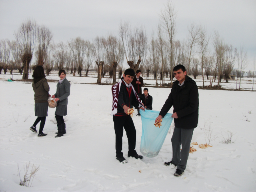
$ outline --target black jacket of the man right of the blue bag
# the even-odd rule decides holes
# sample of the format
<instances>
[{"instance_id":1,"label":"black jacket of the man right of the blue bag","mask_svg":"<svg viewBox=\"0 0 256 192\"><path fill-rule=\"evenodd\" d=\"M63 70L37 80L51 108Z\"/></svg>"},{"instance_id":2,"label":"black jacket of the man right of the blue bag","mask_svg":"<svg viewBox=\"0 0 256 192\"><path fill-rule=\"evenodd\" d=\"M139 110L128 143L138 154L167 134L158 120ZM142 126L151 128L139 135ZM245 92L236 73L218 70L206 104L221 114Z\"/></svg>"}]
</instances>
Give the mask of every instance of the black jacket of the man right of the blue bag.
<instances>
[{"instance_id":1,"label":"black jacket of the man right of the blue bag","mask_svg":"<svg viewBox=\"0 0 256 192\"><path fill-rule=\"evenodd\" d=\"M165 116L173 106L173 112L178 118L174 118L177 128L196 128L198 124L198 88L192 78L186 76L184 84L179 86L178 80L172 85L172 90L159 115Z\"/></svg>"}]
</instances>

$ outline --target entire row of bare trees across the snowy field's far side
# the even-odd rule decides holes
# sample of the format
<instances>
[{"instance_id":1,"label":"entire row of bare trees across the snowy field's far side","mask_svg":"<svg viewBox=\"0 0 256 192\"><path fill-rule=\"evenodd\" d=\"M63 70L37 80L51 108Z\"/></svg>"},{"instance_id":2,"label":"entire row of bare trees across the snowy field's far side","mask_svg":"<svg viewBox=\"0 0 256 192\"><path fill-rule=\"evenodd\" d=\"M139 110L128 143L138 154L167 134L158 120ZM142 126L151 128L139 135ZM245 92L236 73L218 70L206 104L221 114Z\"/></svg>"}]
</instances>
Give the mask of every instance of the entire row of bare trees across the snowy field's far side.
<instances>
[{"instance_id":1,"label":"entire row of bare trees across the snowy field's far side","mask_svg":"<svg viewBox=\"0 0 256 192\"><path fill-rule=\"evenodd\" d=\"M147 76L151 72L156 83L161 80L162 84L168 74L172 84L172 69L178 64L184 65L194 78L202 74L203 86L204 76L210 78L210 86L218 77L220 86L222 78L228 82L235 64L239 69L237 72L246 68L246 50L226 44L217 31L210 35L204 26L192 23L188 26L187 37L177 40L177 11L172 2L166 3L159 16L160 22L150 38L144 26L132 27L129 22L121 21L119 37L112 34L97 36L92 42L77 37L58 44L52 42L52 33L46 26L38 26L29 19L15 32L15 41L0 41L0 72L17 68L20 73L24 70L23 79L28 79L34 50L35 64L44 66L47 75L56 66L59 70L70 70L74 76L76 72L82 76L82 70L86 70L85 76L88 76L88 71L96 64L99 84L106 73L115 83L117 68L121 78L124 58L130 68L140 69Z\"/></svg>"}]
</instances>

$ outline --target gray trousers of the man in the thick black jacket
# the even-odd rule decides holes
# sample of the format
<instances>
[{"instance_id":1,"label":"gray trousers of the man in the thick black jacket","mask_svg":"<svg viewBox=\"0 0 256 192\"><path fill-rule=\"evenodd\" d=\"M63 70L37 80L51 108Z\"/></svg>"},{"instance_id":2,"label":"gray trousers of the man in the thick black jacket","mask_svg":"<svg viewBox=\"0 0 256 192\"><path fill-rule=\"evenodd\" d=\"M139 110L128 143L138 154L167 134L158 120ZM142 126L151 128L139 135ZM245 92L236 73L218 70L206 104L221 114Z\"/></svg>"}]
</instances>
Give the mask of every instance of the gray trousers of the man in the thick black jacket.
<instances>
[{"instance_id":1,"label":"gray trousers of the man in the thick black jacket","mask_svg":"<svg viewBox=\"0 0 256 192\"><path fill-rule=\"evenodd\" d=\"M194 128L181 129L174 127L172 134L172 163L177 165L177 169L183 171L186 169L193 131ZM182 150L180 150L180 144L182 145Z\"/></svg>"}]
</instances>

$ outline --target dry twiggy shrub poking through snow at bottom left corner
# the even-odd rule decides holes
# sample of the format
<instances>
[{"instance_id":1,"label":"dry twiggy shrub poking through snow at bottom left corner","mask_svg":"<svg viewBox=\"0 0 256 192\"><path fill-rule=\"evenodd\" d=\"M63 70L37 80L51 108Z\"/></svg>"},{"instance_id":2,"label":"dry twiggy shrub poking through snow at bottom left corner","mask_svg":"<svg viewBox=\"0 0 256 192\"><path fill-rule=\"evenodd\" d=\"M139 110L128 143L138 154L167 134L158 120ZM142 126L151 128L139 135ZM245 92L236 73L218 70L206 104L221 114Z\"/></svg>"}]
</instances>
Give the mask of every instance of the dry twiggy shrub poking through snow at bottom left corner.
<instances>
[{"instance_id":1,"label":"dry twiggy shrub poking through snow at bottom left corner","mask_svg":"<svg viewBox=\"0 0 256 192\"><path fill-rule=\"evenodd\" d=\"M25 167L25 165L23 167L24 167L24 177L23 178L20 177L20 185L29 187L29 184L30 184L30 187L31 187L32 182L34 180L34 176L36 176L36 172L39 170L40 166L36 167L36 166L34 166L34 164L32 164L30 173L29 173L29 168L31 167L30 162L26 162L26 167ZM19 172L18 175L20 176L21 170L19 168L19 164L18 164L18 172ZM30 180L31 180L31 183L30 183Z\"/></svg>"}]
</instances>

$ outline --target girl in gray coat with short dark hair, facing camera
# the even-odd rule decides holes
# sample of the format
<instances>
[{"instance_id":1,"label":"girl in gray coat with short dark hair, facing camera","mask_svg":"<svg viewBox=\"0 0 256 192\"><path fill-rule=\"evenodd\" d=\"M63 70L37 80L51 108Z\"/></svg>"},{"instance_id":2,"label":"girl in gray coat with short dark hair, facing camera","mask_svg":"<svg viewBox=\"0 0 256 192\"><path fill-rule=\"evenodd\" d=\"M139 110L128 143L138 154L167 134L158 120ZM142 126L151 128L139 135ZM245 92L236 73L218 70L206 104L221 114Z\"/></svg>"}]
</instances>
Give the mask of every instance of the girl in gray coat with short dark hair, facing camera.
<instances>
[{"instance_id":1,"label":"girl in gray coat with short dark hair, facing camera","mask_svg":"<svg viewBox=\"0 0 256 192\"><path fill-rule=\"evenodd\" d=\"M70 82L66 79L65 70L59 71L60 80L57 84L57 92L52 96L58 103L55 111L55 118L57 121L58 132L57 136L61 137L66 134L66 124L63 116L67 115L68 112L68 96L70 95Z\"/></svg>"}]
</instances>

